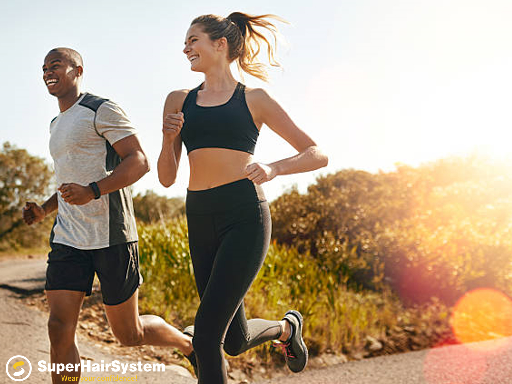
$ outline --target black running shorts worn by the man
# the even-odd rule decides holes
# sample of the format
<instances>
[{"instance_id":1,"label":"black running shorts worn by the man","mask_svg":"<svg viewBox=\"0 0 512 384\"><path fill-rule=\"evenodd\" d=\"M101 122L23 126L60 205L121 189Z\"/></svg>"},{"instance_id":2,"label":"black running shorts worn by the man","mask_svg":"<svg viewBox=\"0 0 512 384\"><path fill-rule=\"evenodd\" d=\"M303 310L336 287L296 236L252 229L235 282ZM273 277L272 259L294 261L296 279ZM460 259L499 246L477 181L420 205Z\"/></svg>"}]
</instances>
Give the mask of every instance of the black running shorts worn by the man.
<instances>
[{"instance_id":1,"label":"black running shorts worn by the man","mask_svg":"<svg viewBox=\"0 0 512 384\"><path fill-rule=\"evenodd\" d=\"M137 242L93 250L56 243L50 245L47 291L79 291L90 296L96 273L101 283L103 303L118 305L132 297L142 284Z\"/></svg>"}]
</instances>

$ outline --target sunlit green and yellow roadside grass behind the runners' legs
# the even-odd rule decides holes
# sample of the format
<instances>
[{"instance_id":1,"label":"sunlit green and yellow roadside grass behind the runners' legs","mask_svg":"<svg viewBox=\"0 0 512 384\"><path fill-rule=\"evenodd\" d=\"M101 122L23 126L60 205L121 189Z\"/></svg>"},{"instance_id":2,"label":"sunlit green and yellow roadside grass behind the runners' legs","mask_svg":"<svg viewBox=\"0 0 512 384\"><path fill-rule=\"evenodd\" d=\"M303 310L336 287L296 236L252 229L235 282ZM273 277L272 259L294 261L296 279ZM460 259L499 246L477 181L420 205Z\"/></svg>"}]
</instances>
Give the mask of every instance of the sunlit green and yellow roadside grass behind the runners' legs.
<instances>
[{"instance_id":1,"label":"sunlit green and yellow roadside grass behind the runners' legs","mask_svg":"<svg viewBox=\"0 0 512 384\"><path fill-rule=\"evenodd\" d=\"M182 329L194 323L199 307L188 250L186 219L159 224L139 223L140 259L145 284L142 312L163 316ZM241 255L243 257L243 255ZM249 318L281 319L288 309L305 317L304 338L312 357L323 354L361 358L373 353L400 352L439 344L450 333L449 309L438 301L406 308L391 292L353 291L336 284L337 276L321 268L309 254L272 243L265 264L246 296ZM394 334L411 337L405 346L390 345ZM416 337L416 339L414 339ZM373 342L375 343L375 342ZM270 343L230 358L236 368L283 366L284 359ZM248 368L249 367L249 368Z\"/></svg>"}]
</instances>

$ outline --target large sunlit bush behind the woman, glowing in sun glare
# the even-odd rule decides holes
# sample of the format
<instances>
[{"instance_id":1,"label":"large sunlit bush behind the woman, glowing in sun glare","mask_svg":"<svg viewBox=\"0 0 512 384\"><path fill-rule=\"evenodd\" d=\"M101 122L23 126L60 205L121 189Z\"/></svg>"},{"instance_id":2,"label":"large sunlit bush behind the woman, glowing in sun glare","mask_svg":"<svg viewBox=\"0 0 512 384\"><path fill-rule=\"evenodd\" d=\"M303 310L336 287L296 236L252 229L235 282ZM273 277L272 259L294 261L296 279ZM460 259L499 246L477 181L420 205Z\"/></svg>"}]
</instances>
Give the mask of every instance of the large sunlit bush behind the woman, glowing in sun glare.
<instances>
[{"instance_id":1,"label":"large sunlit bush behind the woman, glowing in sun glare","mask_svg":"<svg viewBox=\"0 0 512 384\"><path fill-rule=\"evenodd\" d=\"M339 284L391 286L406 303L512 294L512 167L479 157L370 174L344 170L271 204L273 239Z\"/></svg>"}]
</instances>

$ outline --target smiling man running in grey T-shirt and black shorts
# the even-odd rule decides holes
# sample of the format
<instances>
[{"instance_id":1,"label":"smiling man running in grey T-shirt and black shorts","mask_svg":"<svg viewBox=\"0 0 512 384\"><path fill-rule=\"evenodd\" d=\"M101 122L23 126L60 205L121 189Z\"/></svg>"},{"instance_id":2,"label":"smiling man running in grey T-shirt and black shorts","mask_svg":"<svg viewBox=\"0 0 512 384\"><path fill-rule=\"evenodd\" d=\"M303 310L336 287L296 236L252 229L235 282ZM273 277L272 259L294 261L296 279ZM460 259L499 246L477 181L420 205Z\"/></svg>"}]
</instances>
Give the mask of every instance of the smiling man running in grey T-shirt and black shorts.
<instances>
[{"instance_id":1,"label":"smiling man running in grey T-shirt and black shorts","mask_svg":"<svg viewBox=\"0 0 512 384\"><path fill-rule=\"evenodd\" d=\"M23 215L32 225L58 210L45 287L52 362L80 362L75 331L95 273L106 316L123 345L169 346L193 359L189 336L160 317L139 316L142 278L127 187L149 172L150 165L137 131L114 102L80 92L83 62L78 52L53 49L42 71L60 108L50 126L50 152L59 187L42 206L27 203ZM66 376L80 377L80 372L66 372ZM61 375L53 372L52 380L62 382Z\"/></svg>"}]
</instances>

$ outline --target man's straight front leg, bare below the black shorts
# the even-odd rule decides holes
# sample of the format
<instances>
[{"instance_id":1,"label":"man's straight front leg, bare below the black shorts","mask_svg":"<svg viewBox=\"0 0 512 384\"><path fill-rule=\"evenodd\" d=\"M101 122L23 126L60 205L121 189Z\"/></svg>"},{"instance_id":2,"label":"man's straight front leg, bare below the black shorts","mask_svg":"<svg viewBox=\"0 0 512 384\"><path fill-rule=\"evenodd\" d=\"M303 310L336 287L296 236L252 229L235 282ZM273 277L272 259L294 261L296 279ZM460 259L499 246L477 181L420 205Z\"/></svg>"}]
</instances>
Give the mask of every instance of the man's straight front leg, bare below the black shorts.
<instances>
[{"instance_id":1,"label":"man's straight front leg, bare below the black shorts","mask_svg":"<svg viewBox=\"0 0 512 384\"><path fill-rule=\"evenodd\" d=\"M80 364L77 340L75 337L78 316L82 308L85 292L46 291L50 306L48 332L50 334L52 364ZM81 371L65 372L68 377L80 377ZM53 384L65 382L62 373L52 372ZM72 380L71 380L72 381Z\"/></svg>"}]
</instances>

